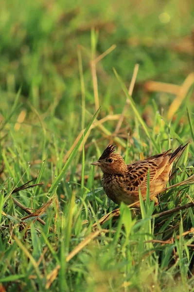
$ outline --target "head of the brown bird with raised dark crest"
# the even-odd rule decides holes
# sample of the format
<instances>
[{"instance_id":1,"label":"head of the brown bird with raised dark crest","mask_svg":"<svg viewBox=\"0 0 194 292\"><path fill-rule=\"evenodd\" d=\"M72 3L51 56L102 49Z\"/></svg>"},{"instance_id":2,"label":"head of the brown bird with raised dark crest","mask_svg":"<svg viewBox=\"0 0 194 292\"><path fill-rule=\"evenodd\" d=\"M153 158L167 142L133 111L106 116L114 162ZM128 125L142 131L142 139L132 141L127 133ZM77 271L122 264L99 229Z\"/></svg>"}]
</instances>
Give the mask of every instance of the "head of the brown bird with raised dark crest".
<instances>
[{"instance_id":1,"label":"head of the brown bird with raised dark crest","mask_svg":"<svg viewBox=\"0 0 194 292\"><path fill-rule=\"evenodd\" d=\"M123 157L115 151L114 145L108 145L99 160L91 163L101 168L103 173L123 173L127 170Z\"/></svg>"}]
</instances>

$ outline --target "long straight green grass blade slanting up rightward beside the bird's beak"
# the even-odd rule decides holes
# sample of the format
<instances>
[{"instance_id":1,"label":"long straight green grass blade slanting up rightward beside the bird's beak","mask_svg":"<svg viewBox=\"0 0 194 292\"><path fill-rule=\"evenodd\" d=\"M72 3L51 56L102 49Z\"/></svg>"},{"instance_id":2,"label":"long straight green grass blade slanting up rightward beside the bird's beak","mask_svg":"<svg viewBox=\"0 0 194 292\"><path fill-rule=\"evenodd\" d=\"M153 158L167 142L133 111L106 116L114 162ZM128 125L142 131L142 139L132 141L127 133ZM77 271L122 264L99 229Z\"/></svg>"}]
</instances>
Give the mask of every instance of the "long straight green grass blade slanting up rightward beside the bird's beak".
<instances>
[{"instance_id":1,"label":"long straight green grass blade slanting up rightward beside the bird's beak","mask_svg":"<svg viewBox=\"0 0 194 292\"><path fill-rule=\"evenodd\" d=\"M89 128L91 127L91 124L93 123L94 119L96 118L97 114L98 114L98 111L100 110L100 108L96 111L96 113L94 114L93 118L91 119L90 123L88 124L87 128L85 129L84 131L84 134L80 137L77 145L75 146L75 148L73 149L73 151L71 152L70 154L70 157L68 158L67 162L65 163L65 165L63 166L63 168L61 169L59 175L55 178L55 180L53 181L50 189L49 189L49 194L53 195L53 193L55 192L58 184L60 183L60 181L62 180L65 172L67 171L68 167L70 166L73 158L75 157L78 149L79 149L79 146L81 145L83 139L84 139L84 136L86 136Z\"/></svg>"}]
</instances>

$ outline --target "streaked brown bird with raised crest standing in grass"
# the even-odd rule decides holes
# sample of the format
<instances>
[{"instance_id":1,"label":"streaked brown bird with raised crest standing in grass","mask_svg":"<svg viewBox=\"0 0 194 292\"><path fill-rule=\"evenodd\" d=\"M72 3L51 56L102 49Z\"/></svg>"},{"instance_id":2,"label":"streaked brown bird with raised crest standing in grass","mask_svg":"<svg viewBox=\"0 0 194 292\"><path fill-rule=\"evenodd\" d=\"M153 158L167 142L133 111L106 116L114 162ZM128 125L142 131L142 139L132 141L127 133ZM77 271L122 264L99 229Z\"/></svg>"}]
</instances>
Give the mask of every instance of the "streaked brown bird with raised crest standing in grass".
<instances>
[{"instance_id":1,"label":"streaked brown bird with raised crest standing in grass","mask_svg":"<svg viewBox=\"0 0 194 292\"><path fill-rule=\"evenodd\" d=\"M159 193L165 188L171 174L173 162L181 154L186 145L180 145L174 152L171 149L148 157L132 164L125 164L123 157L115 151L114 145L106 147L98 161L91 163L98 165L103 171L103 188L108 198L117 204L123 201L129 205L139 201L139 188L141 195L146 196L147 174L150 172L150 195ZM158 203L154 196L152 200ZM139 207L140 203L136 204Z\"/></svg>"}]
</instances>

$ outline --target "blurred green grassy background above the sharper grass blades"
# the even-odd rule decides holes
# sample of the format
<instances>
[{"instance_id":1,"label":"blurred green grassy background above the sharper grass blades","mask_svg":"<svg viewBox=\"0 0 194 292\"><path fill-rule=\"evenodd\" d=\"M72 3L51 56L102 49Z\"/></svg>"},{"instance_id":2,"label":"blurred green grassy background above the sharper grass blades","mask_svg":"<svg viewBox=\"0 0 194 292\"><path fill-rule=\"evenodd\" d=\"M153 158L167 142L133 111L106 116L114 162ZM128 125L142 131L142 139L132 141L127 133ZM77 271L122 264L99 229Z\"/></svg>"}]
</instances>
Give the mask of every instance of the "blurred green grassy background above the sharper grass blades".
<instances>
[{"instance_id":1,"label":"blurred green grassy background above the sharper grass blades","mask_svg":"<svg viewBox=\"0 0 194 292\"><path fill-rule=\"evenodd\" d=\"M0 96L8 110L21 87L26 101L41 111L55 105L69 121L80 110L78 46L81 46L86 104L93 106L89 60L91 29L99 32L95 55L116 49L97 65L99 100L104 110L120 112L125 98L114 67L129 84L140 64L135 99L146 95L148 80L181 85L194 65L194 2L0 0ZM151 94L162 104L161 94ZM163 96L164 97L164 96ZM173 95L165 103L170 104ZM148 101L149 102L149 101ZM78 118L77 123L80 120Z\"/></svg>"}]
</instances>

